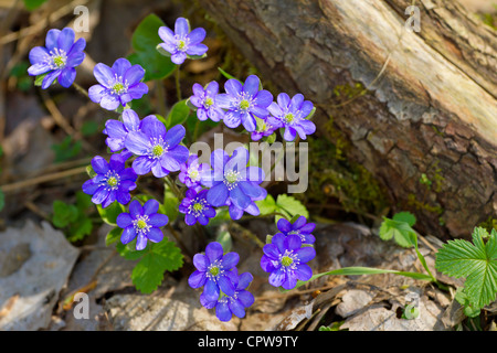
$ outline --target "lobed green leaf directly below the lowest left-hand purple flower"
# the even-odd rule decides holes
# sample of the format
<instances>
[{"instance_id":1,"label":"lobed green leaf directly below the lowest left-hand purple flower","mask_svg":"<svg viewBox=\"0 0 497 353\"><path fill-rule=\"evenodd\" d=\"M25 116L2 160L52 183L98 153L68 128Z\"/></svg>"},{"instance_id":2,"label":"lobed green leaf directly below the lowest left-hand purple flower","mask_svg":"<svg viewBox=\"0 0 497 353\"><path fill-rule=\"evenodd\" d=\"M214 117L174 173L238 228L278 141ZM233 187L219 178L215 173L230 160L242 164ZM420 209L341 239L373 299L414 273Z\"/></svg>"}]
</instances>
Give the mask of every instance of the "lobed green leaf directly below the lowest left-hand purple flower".
<instances>
[{"instance_id":1,"label":"lobed green leaf directly below the lowest left-hand purple flower","mask_svg":"<svg viewBox=\"0 0 497 353\"><path fill-rule=\"evenodd\" d=\"M142 293L151 293L162 282L165 271L177 270L182 265L181 250L175 243L163 239L154 244L151 250L135 266L133 284Z\"/></svg>"}]
</instances>

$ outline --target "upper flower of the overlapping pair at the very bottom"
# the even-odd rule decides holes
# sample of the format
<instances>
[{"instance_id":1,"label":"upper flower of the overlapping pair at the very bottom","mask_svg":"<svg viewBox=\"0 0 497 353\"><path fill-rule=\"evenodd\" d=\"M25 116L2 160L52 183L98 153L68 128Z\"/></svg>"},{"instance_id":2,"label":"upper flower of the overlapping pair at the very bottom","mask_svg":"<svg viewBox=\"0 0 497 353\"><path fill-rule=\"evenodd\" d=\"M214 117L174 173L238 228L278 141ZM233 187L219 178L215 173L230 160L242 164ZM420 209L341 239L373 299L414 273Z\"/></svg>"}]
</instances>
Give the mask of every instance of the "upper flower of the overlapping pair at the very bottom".
<instances>
[{"instance_id":1,"label":"upper flower of the overlapping pair at the very bottom","mask_svg":"<svg viewBox=\"0 0 497 353\"><path fill-rule=\"evenodd\" d=\"M232 269L239 264L240 256L236 253L223 254L220 243L209 243L204 254L193 256L195 270L188 278L191 288L203 288L203 298L207 301L218 300L221 292L234 296L236 287L236 272Z\"/></svg>"}]
</instances>

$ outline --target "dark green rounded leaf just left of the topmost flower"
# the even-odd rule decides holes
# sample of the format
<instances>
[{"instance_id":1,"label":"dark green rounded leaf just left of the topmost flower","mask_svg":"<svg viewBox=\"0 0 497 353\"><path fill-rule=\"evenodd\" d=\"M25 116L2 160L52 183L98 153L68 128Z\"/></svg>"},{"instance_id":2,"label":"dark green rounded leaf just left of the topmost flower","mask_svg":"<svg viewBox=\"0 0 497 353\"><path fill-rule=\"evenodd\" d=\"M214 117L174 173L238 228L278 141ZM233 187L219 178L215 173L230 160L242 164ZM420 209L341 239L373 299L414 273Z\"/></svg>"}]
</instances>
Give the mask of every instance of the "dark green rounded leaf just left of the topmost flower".
<instances>
[{"instance_id":1,"label":"dark green rounded leaf just left of the topmost flower","mask_svg":"<svg viewBox=\"0 0 497 353\"><path fill-rule=\"evenodd\" d=\"M131 64L139 64L145 68L145 82L166 78L177 67L170 58L156 50L157 44L162 43L158 32L163 25L166 25L163 21L152 13L146 17L133 33L134 53L128 56L128 60Z\"/></svg>"}]
</instances>

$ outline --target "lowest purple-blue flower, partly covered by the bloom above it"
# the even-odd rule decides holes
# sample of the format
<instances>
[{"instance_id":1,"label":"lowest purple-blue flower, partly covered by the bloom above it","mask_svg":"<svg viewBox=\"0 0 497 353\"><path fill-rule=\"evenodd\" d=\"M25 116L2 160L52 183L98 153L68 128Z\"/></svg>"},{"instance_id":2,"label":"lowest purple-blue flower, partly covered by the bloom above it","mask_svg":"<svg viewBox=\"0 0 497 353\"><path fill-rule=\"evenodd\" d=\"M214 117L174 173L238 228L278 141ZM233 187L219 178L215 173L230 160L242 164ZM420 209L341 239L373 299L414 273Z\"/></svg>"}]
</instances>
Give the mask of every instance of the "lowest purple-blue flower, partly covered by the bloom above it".
<instances>
[{"instance_id":1,"label":"lowest purple-blue flower, partly covered by the bloom above it","mask_svg":"<svg viewBox=\"0 0 497 353\"><path fill-rule=\"evenodd\" d=\"M232 270L237 274L236 268ZM246 290L254 277L250 272L244 272L234 277L235 292L233 296L221 295L216 300L208 300L204 295L200 296L200 303L207 308L215 308L215 315L220 321L230 321L231 318L236 315L237 318L245 317L245 309L254 303L254 296Z\"/></svg>"}]
</instances>

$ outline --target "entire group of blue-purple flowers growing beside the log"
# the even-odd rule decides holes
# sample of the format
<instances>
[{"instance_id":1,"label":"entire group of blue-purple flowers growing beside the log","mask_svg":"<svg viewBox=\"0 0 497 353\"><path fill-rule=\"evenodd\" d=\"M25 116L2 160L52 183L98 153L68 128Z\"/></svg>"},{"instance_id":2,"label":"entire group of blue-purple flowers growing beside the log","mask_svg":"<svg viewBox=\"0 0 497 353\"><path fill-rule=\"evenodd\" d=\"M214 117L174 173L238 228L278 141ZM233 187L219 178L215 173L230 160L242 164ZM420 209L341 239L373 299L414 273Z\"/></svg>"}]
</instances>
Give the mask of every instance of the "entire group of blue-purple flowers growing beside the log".
<instances>
[{"instance_id":1,"label":"entire group of blue-purple flowers growing beside the log","mask_svg":"<svg viewBox=\"0 0 497 353\"><path fill-rule=\"evenodd\" d=\"M188 20L179 18L175 31L161 26L158 32L163 43L157 49L181 65L187 58L205 55L207 45L201 42L205 30L190 30ZM36 46L30 52L31 75L45 75L42 88L57 82L63 87L74 83L76 71L85 54L83 39L75 40L72 29L51 30L46 34L45 47ZM137 188L139 175L151 173L155 178L170 178L178 173L176 183L181 185L179 212L184 214L187 225L208 225L215 217L219 207L228 207L232 220L240 220L246 212L260 215L256 201L264 200L267 191L261 186L265 179L263 170L251 167L248 150L237 148L230 156L226 151L214 150L210 163L200 163L197 154L190 154L182 145L186 129L182 125L166 128L155 115L142 119L129 107L129 103L148 93L142 82L145 69L131 65L126 58L118 58L112 66L98 63L94 68L98 84L89 87L88 97L106 110L119 113L118 119L108 119L103 133L106 145L113 152L107 161L101 156L92 160L92 176L83 184L83 192L92 195L93 203L103 208L117 202L128 205L128 212L117 216L117 226L123 228L120 240L129 244L136 240L136 249L142 250L148 242L163 239L161 227L169 222L167 215L159 213L159 202L150 199L144 204L131 201L131 192ZM229 128L243 128L252 133L253 140L282 130L285 140L293 141L298 135L306 139L314 133L315 125L308 120L314 106L304 100L300 94L290 98L279 94L277 101L273 95L261 87L257 76L248 76L244 83L228 79L225 93L219 93L216 82L205 87L194 84L193 95L188 99L197 111L199 120L223 121ZM129 163L131 167L126 167ZM294 288L297 280L311 276L306 264L315 256L311 232L315 225L305 217L294 223L281 220L278 231L272 242L264 246L262 268L269 272L269 284L285 289ZM210 243L204 254L193 257L197 270L190 276L192 288L203 287L200 296L202 306L215 308L216 317L229 321L232 314L243 318L245 309L254 302L246 288L253 277L239 275L239 255L224 254L221 244Z\"/></svg>"}]
</instances>

